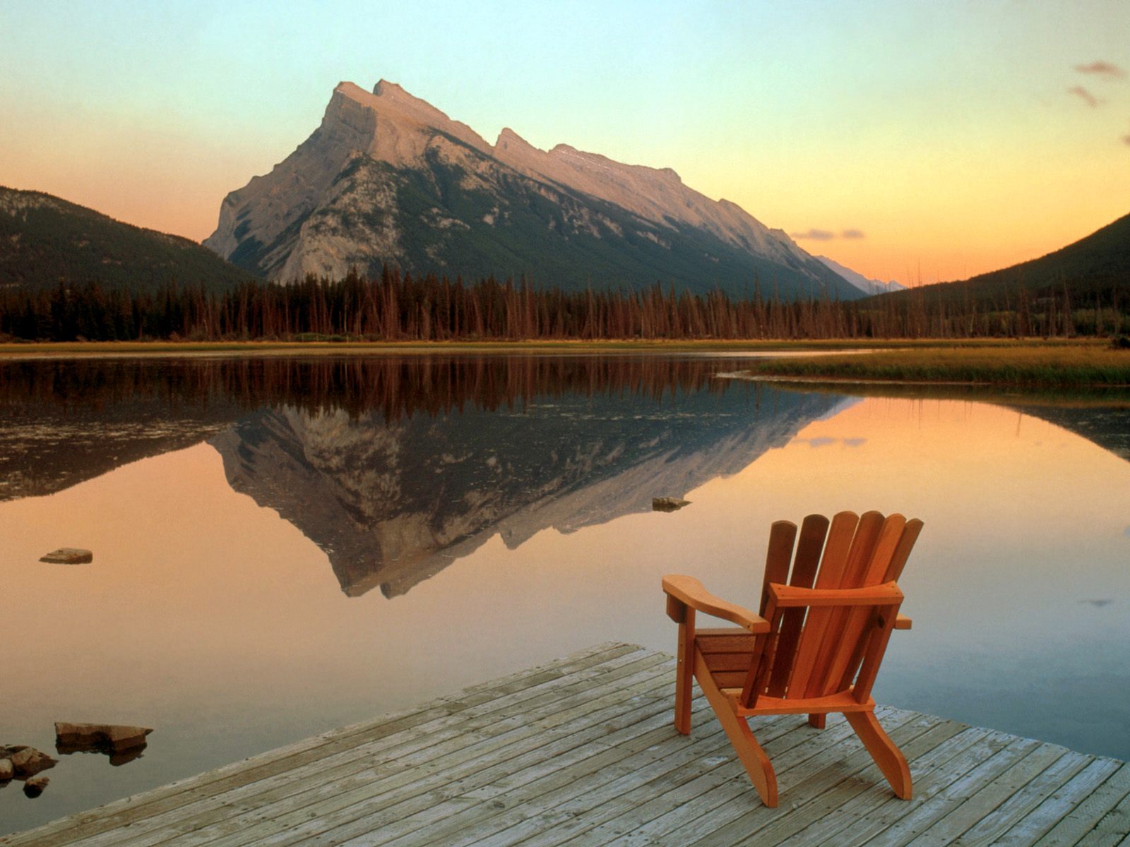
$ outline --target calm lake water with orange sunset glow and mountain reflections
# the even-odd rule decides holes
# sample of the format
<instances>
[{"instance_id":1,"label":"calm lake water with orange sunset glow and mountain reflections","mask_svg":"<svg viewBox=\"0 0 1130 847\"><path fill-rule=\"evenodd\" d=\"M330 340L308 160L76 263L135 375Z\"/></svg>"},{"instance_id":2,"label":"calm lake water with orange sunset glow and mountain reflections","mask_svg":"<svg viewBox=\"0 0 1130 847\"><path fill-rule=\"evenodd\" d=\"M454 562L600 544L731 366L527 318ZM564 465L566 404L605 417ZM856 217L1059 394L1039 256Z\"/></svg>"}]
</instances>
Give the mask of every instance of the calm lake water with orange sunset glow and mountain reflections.
<instances>
[{"instance_id":1,"label":"calm lake water with orange sunset glow and mountain reflections","mask_svg":"<svg viewBox=\"0 0 1130 847\"><path fill-rule=\"evenodd\" d=\"M1130 758L1130 413L854 398L724 358L0 365L0 744L24 829L602 640L755 605L770 523L921 517L876 699ZM686 497L652 512L652 497ZM40 564L58 547L80 566Z\"/></svg>"}]
</instances>

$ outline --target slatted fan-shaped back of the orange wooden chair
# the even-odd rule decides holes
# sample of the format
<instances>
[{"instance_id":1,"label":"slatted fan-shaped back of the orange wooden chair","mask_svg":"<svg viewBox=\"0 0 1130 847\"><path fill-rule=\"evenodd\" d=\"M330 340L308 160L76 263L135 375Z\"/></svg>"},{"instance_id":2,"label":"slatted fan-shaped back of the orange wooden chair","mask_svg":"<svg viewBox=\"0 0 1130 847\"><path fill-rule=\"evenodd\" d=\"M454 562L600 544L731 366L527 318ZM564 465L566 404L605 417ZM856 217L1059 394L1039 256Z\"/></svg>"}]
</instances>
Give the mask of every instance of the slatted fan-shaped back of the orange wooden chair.
<instances>
[{"instance_id":1,"label":"slatted fan-shaped back of the orange wooden chair","mask_svg":"<svg viewBox=\"0 0 1130 847\"><path fill-rule=\"evenodd\" d=\"M760 604L770 632L754 644L742 705L847 690L866 702L902 601L896 580L921 530L921 521L878 512L809 515L799 540L796 524L774 523Z\"/></svg>"}]
</instances>

